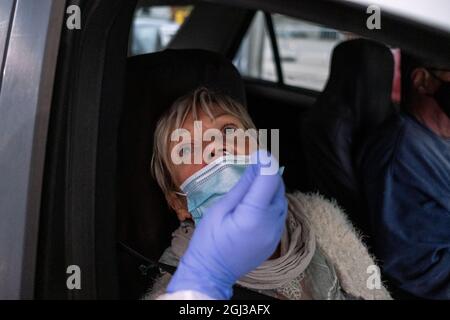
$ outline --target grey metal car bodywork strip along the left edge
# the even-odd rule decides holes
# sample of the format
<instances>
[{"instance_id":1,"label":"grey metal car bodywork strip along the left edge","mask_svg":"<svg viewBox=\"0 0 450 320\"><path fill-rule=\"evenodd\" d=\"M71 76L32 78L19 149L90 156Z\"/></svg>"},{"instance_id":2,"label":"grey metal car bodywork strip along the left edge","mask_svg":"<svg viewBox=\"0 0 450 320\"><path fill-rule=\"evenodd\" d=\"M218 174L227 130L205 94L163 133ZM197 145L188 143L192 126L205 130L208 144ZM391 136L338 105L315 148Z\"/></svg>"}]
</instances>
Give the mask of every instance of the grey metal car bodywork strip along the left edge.
<instances>
[{"instance_id":1,"label":"grey metal car bodywork strip along the left edge","mask_svg":"<svg viewBox=\"0 0 450 320\"><path fill-rule=\"evenodd\" d=\"M63 1L0 2L0 299L33 297L63 10Z\"/></svg>"}]
</instances>

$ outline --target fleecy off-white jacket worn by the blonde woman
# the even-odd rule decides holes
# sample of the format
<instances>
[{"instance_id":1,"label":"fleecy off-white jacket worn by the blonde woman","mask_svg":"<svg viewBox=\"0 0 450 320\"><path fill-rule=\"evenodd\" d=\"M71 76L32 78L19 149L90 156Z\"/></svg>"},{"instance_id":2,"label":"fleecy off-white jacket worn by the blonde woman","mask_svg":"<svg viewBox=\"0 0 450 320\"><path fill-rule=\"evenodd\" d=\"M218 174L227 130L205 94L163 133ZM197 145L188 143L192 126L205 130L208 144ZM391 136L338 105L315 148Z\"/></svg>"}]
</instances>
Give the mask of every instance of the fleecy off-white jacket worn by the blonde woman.
<instances>
[{"instance_id":1,"label":"fleecy off-white jacket worn by the blonde woman","mask_svg":"<svg viewBox=\"0 0 450 320\"><path fill-rule=\"evenodd\" d=\"M362 242L359 232L336 203L318 194L297 192L289 195L289 198L292 197L302 208L317 242L317 253L304 275L308 280L309 298L391 299L381 282L374 258ZM174 266L178 264L170 248L160 261ZM144 299L196 299L196 293L192 292L164 295L170 278L168 273L158 278ZM264 290L260 293L279 298L275 291Z\"/></svg>"}]
</instances>

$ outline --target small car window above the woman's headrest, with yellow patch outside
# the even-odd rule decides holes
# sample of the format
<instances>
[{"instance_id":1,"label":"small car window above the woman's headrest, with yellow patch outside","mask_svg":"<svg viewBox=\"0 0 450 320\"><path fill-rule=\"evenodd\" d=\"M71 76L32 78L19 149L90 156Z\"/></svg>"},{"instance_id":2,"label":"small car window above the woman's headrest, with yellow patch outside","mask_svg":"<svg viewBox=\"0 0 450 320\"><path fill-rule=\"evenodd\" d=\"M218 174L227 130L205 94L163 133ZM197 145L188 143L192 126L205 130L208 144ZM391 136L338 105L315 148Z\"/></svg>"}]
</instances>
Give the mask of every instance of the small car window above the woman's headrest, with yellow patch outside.
<instances>
[{"instance_id":1,"label":"small car window above the woman's headrest, with yellow patch outside","mask_svg":"<svg viewBox=\"0 0 450 320\"><path fill-rule=\"evenodd\" d=\"M167 47L192 11L192 6L137 6L131 27L129 56Z\"/></svg>"}]
</instances>

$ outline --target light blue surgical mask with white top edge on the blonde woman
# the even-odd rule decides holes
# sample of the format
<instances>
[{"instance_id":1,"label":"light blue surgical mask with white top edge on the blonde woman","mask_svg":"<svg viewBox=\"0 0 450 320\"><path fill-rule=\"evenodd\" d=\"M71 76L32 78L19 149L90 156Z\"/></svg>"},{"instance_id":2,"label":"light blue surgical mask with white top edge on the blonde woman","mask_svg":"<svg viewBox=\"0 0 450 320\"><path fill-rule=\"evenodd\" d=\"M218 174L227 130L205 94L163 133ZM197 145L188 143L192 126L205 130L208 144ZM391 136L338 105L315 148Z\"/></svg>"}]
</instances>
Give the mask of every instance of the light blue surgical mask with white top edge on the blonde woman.
<instances>
[{"instance_id":1,"label":"light blue surgical mask with white top edge on the blonde woman","mask_svg":"<svg viewBox=\"0 0 450 320\"><path fill-rule=\"evenodd\" d=\"M187 197L188 211L196 225L206 209L234 187L249 164L249 156L226 155L183 182L180 189Z\"/></svg>"}]
</instances>

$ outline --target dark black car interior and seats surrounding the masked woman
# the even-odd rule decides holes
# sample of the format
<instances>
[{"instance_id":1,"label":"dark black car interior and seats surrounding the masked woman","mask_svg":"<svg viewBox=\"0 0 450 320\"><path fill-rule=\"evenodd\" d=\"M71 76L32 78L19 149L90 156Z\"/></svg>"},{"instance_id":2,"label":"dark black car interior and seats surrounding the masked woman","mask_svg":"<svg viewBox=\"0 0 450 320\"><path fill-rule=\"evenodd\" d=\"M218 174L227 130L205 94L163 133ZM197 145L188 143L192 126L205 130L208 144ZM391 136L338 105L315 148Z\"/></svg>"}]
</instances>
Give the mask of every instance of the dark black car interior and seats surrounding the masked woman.
<instances>
[{"instance_id":1,"label":"dark black car interior and seats surrounding the masked woman","mask_svg":"<svg viewBox=\"0 0 450 320\"><path fill-rule=\"evenodd\" d=\"M87 24L77 34L63 34L58 58L37 298L139 299L161 270L173 272L157 262L170 245L178 220L150 174L153 132L162 112L199 86L246 105L258 128L279 129L287 189L335 199L370 246L357 173L358 148L397 111L391 100L391 47L411 49L414 43L404 34L385 32L370 39L369 31L358 24L365 17L360 8L294 2L287 1L286 9L276 1L81 2ZM161 5L188 5L192 11L164 48L130 55L135 11ZM319 14L331 8L347 21ZM258 11L264 12L269 29L275 81L246 76L233 64ZM326 58L330 66L323 90L289 85L283 81L282 52L269 12L361 37L333 48ZM395 17L386 24L435 37L433 30ZM428 44L424 41L424 46ZM433 43L425 54L433 54L439 45L443 44ZM74 262L86 274L82 292L67 292L60 284L65 283L65 274L55 271ZM234 298L265 297L238 288Z\"/></svg>"}]
</instances>

